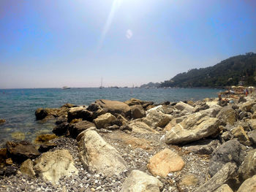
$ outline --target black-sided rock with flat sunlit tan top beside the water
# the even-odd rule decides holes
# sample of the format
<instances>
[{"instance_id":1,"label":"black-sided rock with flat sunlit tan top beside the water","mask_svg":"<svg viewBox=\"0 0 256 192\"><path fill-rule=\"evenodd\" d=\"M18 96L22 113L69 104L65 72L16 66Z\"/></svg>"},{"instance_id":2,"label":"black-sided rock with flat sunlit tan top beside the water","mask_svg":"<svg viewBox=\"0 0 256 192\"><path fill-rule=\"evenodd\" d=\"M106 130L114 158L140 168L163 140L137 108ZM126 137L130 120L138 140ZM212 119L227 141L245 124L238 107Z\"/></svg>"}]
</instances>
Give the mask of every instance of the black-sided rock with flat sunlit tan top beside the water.
<instances>
[{"instance_id":1,"label":"black-sided rock with flat sunlit tan top beside the water","mask_svg":"<svg viewBox=\"0 0 256 192\"><path fill-rule=\"evenodd\" d=\"M86 110L85 107L72 107L67 112L67 120L68 122L72 121L73 119L83 119L83 120L93 120L92 118L93 112Z\"/></svg>"}]
</instances>

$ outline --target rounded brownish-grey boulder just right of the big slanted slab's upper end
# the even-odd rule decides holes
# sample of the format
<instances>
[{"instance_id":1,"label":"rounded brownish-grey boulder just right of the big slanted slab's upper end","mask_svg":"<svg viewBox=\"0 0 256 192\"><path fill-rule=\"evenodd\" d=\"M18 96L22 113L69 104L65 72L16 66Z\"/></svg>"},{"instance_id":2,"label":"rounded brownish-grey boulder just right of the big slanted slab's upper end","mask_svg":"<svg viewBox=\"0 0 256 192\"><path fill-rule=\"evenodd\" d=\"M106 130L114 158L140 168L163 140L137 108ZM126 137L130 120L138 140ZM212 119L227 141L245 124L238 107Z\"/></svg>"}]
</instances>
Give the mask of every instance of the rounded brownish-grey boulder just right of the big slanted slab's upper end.
<instances>
[{"instance_id":1,"label":"rounded brownish-grey boulder just right of the big slanted slab's upper end","mask_svg":"<svg viewBox=\"0 0 256 192\"><path fill-rule=\"evenodd\" d=\"M230 125L234 125L237 120L236 111L233 110L232 107L223 107L217 115L217 118L222 120L225 124L229 123Z\"/></svg>"}]
</instances>

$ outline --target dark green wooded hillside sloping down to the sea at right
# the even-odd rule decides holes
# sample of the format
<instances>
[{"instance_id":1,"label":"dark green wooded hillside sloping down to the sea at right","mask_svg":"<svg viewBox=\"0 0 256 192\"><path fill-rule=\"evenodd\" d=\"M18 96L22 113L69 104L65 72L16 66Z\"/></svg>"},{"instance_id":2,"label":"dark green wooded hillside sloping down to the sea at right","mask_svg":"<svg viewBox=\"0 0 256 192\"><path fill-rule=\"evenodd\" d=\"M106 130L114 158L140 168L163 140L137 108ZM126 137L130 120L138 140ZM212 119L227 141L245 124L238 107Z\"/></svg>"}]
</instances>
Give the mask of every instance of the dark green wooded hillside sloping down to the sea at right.
<instances>
[{"instance_id":1,"label":"dark green wooded hillside sloping down to the sea at right","mask_svg":"<svg viewBox=\"0 0 256 192\"><path fill-rule=\"evenodd\" d=\"M227 58L214 66L191 69L162 82L159 87L220 87L256 85L256 54L246 53Z\"/></svg>"}]
</instances>

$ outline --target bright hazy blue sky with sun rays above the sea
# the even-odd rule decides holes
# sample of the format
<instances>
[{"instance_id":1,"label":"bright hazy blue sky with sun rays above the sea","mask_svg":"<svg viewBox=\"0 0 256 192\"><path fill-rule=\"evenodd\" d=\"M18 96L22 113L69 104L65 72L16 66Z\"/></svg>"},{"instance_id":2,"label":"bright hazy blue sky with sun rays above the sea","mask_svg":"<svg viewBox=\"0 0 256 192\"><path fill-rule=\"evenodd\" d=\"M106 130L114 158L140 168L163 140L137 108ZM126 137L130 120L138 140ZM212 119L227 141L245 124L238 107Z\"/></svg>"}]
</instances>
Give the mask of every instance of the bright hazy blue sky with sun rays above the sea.
<instances>
[{"instance_id":1,"label":"bright hazy blue sky with sun rays above the sea","mask_svg":"<svg viewBox=\"0 0 256 192\"><path fill-rule=\"evenodd\" d=\"M140 86L248 52L255 0L0 1L0 88Z\"/></svg>"}]
</instances>

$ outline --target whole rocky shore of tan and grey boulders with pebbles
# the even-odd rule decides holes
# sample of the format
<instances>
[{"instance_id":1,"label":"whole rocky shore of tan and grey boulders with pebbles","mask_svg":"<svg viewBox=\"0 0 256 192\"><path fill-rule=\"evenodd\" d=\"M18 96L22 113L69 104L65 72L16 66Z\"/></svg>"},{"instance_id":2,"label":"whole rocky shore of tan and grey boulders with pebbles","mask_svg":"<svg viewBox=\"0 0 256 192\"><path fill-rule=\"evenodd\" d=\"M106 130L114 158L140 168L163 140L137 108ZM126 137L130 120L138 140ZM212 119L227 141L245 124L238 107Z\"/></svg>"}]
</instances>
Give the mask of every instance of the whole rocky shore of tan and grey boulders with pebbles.
<instances>
[{"instance_id":1,"label":"whole rocky shore of tan and grey boulders with pebbles","mask_svg":"<svg viewBox=\"0 0 256 192\"><path fill-rule=\"evenodd\" d=\"M256 99L37 109L53 134L0 149L0 191L256 191Z\"/></svg>"}]
</instances>

